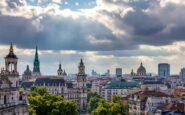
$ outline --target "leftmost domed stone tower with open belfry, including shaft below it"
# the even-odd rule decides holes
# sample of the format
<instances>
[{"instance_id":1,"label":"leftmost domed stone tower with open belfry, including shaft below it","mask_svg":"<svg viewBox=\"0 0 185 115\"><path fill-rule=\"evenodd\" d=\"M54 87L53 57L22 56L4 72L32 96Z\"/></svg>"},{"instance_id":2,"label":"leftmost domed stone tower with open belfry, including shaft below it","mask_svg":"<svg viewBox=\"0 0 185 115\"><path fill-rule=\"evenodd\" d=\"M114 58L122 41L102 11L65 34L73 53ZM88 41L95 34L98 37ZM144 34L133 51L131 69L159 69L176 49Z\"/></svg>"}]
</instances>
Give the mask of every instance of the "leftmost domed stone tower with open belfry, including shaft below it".
<instances>
[{"instance_id":1,"label":"leftmost domed stone tower with open belfry, including shaft below it","mask_svg":"<svg viewBox=\"0 0 185 115\"><path fill-rule=\"evenodd\" d=\"M14 54L13 44L11 43L9 53L5 57L5 74L12 82L12 87L18 87L19 73L17 72L18 58Z\"/></svg>"}]
</instances>

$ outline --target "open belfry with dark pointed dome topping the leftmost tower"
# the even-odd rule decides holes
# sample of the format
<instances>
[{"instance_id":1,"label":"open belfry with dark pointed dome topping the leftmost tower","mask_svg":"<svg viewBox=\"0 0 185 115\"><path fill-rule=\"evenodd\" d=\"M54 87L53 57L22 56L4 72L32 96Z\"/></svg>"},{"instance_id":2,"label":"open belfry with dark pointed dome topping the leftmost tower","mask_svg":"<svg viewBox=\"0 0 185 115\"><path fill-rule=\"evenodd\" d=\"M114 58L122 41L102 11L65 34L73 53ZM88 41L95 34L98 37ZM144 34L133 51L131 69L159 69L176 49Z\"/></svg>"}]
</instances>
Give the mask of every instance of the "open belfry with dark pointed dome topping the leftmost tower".
<instances>
[{"instance_id":1,"label":"open belfry with dark pointed dome topping the leftmost tower","mask_svg":"<svg viewBox=\"0 0 185 115\"><path fill-rule=\"evenodd\" d=\"M9 53L5 57L5 70L9 74L18 74L17 72L17 56L14 54L13 44L11 43Z\"/></svg>"}]
</instances>

